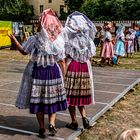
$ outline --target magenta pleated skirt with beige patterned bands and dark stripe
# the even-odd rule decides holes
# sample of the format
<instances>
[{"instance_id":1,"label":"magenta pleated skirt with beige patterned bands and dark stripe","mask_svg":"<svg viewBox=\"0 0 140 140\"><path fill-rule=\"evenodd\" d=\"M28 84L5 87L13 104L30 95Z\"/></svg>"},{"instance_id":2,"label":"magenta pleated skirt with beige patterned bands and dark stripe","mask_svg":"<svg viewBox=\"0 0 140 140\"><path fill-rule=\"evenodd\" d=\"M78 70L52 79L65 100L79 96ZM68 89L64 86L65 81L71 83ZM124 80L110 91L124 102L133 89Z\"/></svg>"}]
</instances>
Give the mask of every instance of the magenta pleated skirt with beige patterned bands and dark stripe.
<instances>
[{"instance_id":1,"label":"magenta pleated skirt with beige patterned bands and dark stripe","mask_svg":"<svg viewBox=\"0 0 140 140\"><path fill-rule=\"evenodd\" d=\"M66 74L65 88L69 105L82 106L92 102L87 63L80 63L74 60L70 62Z\"/></svg>"}]
</instances>

